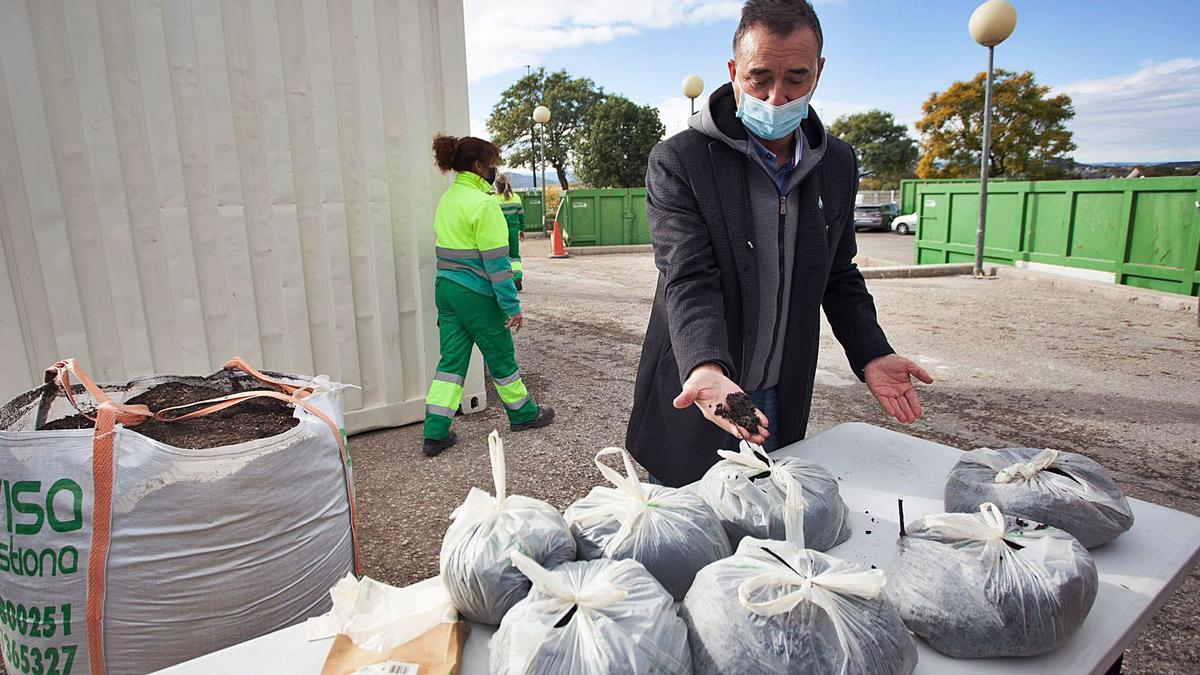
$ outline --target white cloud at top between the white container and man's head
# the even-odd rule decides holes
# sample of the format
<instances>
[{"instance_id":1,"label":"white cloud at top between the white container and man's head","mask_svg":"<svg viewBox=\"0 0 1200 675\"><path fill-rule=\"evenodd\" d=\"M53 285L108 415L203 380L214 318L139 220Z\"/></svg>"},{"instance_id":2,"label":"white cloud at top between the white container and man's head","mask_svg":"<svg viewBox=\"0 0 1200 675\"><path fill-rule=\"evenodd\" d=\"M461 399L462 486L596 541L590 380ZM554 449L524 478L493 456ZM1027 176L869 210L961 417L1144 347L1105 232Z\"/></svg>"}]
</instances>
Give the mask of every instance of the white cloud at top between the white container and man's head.
<instances>
[{"instance_id":1,"label":"white cloud at top between the white container and man's head","mask_svg":"<svg viewBox=\"0 0 1200 675\"><path fill-rule=\"evenodd\" d=\"M476 80L536 65L556 49L737 19L740 10L731 0L464 0L467 73Z\"/></svg>"}]
</instances>

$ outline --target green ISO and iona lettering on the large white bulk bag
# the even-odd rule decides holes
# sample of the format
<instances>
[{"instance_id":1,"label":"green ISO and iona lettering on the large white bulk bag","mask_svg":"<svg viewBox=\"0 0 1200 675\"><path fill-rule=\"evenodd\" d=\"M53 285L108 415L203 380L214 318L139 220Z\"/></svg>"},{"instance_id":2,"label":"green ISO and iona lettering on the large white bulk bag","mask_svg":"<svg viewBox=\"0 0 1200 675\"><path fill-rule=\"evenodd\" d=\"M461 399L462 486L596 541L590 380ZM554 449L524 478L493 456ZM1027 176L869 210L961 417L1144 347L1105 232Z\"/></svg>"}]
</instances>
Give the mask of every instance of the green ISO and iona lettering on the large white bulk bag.
<instances>
[{"instance_id":1,"label":"green ISO and iona lettering on the large white bulk bag","mask_svg":"<svg viewBox=\"0 0 1200 675\"><path fill-rule=\"evenodd\" d=\"M83 489L70 478L60 478L44 489L42 480L0 479L4 495L2 518L8 540L0 539L0 572L18 577L58 577L79 568L74 546L60 549L22 546L23 537L83 528Z\"/></svg>"}]
</instances>

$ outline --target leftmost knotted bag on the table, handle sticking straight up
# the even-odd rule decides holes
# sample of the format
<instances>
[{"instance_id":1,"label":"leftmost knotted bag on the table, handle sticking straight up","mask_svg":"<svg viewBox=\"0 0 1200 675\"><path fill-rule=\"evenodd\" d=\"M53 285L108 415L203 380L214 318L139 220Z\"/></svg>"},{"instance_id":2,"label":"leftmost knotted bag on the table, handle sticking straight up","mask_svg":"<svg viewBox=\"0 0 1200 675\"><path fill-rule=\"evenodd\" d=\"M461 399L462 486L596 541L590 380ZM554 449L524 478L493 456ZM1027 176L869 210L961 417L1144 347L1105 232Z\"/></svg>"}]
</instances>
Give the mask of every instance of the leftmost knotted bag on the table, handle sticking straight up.
<instances>
[{"instance_id":1,"label":"leftmost knotted bag on the table, handle sticking straight up","mask_svg":"<svg viewBox=\"0 0 1200 675\"><path fill-rule=\"evenodd\" d=\"M496 496L472 488L454 512L442 539L442 579L458 613L496 626L529 592L529 580L512 565L520 551L542 567L575 560L575 538L558 510L546 502L509 495L504 442L487 437Z\"/></svg>"}]
</instances>

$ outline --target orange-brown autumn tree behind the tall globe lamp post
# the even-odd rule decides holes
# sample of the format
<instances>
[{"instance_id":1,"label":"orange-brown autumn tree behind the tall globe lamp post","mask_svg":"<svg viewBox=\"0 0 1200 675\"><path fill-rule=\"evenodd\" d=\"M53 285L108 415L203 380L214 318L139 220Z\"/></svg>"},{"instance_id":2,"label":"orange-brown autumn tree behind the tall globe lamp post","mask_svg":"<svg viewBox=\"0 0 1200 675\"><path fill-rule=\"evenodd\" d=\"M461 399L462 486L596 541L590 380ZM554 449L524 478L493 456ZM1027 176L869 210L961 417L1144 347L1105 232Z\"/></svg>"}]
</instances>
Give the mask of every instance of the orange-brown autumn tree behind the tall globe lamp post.
<instances>
[{"instance_id":1,"label":"orange-brown autumn tree behind the tall globe lamp post","mask_svg":"<svg viewBox=\"0 0 1200 675\"><path fill-rule=\"evenodd\" d=\"M979 175L983 145L984 73L955 82L922 106L917 130L924 135L917 175L973 178ZM992 84L990 177L1062 178L1075 149L1067 121L1075 117L1070 97L1050 96L1033 73L997 70Z\"/></svg>"}]
</instances>

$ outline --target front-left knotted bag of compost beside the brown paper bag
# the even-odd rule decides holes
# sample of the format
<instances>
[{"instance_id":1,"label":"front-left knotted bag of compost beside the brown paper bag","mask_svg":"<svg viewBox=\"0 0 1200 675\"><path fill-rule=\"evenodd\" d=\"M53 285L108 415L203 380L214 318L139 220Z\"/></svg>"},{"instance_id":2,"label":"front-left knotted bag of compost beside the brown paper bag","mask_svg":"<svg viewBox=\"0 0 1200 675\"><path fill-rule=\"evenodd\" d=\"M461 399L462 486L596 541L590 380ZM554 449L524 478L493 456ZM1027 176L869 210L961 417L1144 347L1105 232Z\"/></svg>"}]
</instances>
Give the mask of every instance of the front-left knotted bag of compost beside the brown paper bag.
<instances>
[{"instance_id":1,"label":"front-left knotted bag of compost beside the brown paper bag","mask_svg":"<svg viewBox=\"0 0 1200 675\"><path fill-rule=\"evenodd\" d=\"M688 628L674 601L634 560L547 571L512 554L533 581L492 637L492 675L689 675Z\"/></svg>"}]
</instances>

